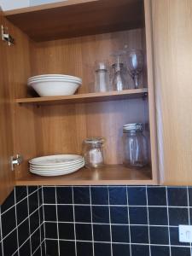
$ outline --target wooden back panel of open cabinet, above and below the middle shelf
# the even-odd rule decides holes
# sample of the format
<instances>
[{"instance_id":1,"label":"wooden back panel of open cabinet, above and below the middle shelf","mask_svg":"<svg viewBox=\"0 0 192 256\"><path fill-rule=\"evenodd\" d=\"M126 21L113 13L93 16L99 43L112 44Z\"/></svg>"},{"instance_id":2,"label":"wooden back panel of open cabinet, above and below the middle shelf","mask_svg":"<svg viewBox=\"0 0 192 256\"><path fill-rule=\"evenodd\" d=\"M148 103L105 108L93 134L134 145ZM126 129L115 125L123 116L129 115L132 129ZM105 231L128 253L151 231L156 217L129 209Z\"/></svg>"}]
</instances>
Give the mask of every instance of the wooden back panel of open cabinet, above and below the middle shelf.
<instances>
[{"instance_id":1,"label":"wooden back panel of open cabinet, above and below the middle shelf","mask_svg":"<svg viewBox=\"0 0 192 256\"><path fill-rule=\"evenodd\" d=\"M142 36L143 31L138 29L36 44L32 52L32 74L75 75L83 79L79 94L93 92L94 62L108 59L112 64L112 51L122 49L125 44L130 49L143 49ZM131 79L129 83L133 83ZM143 84L147 86L146 81ZM122 101L40 106L39 150L43 155L80 154L86 137L102 136L106 138L107 164L121 164L122 127L131 122L148 123L147 102L129 100L127 96Z\"/></svg>"}]
</instances>

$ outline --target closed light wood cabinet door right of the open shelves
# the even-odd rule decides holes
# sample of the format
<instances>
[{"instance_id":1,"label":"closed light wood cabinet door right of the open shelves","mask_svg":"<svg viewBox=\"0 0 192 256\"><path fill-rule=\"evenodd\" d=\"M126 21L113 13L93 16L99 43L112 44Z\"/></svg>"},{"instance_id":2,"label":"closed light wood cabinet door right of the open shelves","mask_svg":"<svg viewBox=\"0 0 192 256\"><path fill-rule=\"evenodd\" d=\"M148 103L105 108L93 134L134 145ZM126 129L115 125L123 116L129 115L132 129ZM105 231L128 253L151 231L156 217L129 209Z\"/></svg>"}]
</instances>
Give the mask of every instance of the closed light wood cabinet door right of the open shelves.
<instances>
[{"instance_id":1,"label":"closed light wood cabinet door right of the open shelves","mask_svg":"<svg viewBox=\"0 0 192 256\"><path fill-rule=\"evenodd\" d=\"M160 182L191 185L192 2L153 0L152 7Z\"/></svg>"}]
</instances>

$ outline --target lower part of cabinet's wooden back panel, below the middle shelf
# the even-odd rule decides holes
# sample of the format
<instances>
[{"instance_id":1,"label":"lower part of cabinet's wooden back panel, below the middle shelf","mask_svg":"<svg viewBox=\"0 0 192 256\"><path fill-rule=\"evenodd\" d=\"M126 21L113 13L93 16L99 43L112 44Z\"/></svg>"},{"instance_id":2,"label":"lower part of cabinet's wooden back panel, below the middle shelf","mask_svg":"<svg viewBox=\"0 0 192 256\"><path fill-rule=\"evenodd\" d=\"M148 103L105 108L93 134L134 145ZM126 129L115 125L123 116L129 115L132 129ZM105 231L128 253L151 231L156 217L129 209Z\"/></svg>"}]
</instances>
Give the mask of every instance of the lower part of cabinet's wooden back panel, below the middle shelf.
<instances>
[{"instance_id":1,"label":"lower part of cabinet's wooden back panel, below the middle shelf","mask_svg":"<svg viewBox=\"0 0 192 256\"><path fill-rule=\"evenodd\" d=\"M80 154L86 137L106 138L106 162L123 160L122 126L148 122L142 99L39 108L38 144L41 154ZM39 133L40 131L40 133Z\"/></svg>"}]
</instances>

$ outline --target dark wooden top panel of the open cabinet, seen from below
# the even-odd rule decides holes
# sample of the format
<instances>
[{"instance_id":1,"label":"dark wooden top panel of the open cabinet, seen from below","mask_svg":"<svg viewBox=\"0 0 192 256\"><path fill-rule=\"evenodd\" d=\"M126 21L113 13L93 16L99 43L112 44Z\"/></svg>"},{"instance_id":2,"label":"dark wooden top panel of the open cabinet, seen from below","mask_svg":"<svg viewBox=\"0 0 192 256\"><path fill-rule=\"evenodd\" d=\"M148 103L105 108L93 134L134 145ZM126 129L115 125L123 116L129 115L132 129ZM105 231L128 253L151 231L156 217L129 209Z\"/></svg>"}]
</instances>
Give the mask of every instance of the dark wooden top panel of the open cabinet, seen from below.
<instances>
[{"instance_id":1,"label":"dark wooden top panel of the open cabinet, seen from below","mask_svg":"<svg viewBox=\"0 0 192 256\"><path fill-rule=\"evenodd\" d=\"M68 0L4 15L37 42L144 26L143 0Z\"/></svg>"}]
</instances>

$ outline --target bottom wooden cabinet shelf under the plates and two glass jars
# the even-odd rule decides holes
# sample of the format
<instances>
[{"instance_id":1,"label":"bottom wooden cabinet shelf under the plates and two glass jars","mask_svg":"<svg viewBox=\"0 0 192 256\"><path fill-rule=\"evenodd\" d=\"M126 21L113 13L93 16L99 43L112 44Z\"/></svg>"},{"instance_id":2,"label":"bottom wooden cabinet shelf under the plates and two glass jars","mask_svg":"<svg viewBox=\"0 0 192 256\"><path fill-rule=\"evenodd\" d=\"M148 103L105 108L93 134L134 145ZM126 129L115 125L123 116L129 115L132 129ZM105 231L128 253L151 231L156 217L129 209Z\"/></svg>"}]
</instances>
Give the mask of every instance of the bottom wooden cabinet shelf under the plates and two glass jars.
<instances>
[{"instance_id":1,"label":"bottom wooden cabinet shelf under the plates and two glass jars","mask_svg":"<svg viewBox=\"0 0 192 256\"><path fill-rule=\"evenodd\" d=\"M104 185L104 184L153 184L150 168L129 169L122 165L105 166L100 169L82 168L78 172L59 177L40 177L30 172L16 181L23 185Z\"/></svg>"}]
</instances>

